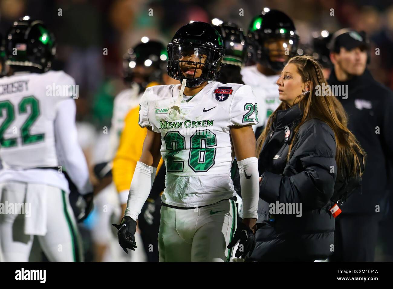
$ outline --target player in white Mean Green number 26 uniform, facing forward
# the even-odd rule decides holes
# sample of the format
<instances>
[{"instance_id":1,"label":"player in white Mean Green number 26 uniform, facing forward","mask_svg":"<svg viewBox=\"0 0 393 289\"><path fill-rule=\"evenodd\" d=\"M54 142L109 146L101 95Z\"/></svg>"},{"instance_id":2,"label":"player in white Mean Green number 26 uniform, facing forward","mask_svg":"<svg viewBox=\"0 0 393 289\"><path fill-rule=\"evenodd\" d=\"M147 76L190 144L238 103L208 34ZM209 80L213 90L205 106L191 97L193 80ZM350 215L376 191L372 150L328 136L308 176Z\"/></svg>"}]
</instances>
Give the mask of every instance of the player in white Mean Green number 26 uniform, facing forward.
<instances>
[{"instance_id":1,"label":"player in white Mean Green number 26 uniform, facing forward","mask_svg":"<svg viewBox=\"0 0 393 289\"><path fill-rule=\"evenodd\" d=\"M242 254L255 245L259 183L255 136L257 104L247 85L216 82L224 55L220 34L192 22L168 44L168 75L181 85L147 88L139 124L147 127L118 228L119 244L134 250L136 220L156 167L165 160L158 251L160 261L229 261L240 240ZM210 81L210 82L209 82ZM231 163L241 175L243 219L237 224Z\"/></svg>"}]
</instances>

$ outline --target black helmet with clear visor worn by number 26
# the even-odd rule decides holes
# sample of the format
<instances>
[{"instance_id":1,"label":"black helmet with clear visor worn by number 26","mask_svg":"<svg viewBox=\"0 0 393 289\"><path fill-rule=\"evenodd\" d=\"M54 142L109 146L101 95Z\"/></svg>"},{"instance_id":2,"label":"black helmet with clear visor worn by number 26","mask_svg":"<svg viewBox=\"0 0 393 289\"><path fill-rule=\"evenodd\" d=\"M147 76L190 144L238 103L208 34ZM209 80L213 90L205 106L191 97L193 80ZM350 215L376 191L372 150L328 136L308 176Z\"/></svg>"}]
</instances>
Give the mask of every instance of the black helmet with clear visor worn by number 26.
<instances>
[{"instance_id":1,"label":"black helmet with clear visor worn by number 26","mask_svg":"<svg viewBox=\"0 0 393 289\"><path fill-rule=\"evenodd\" d=\"M168 75L196 87L216 80L224 57L220 33L208 23L191 22L180 28L167 46Z\"/></svg>"}]
</instances>

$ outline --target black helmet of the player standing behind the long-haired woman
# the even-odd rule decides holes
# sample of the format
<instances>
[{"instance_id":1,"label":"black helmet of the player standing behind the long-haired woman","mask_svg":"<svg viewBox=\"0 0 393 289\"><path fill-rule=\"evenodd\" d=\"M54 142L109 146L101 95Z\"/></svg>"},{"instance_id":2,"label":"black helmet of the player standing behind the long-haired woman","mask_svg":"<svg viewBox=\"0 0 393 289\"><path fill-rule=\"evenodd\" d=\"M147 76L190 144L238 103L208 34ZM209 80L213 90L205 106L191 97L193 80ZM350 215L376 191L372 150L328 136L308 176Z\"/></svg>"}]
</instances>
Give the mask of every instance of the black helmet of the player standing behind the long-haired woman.
<instances>
[{"instance_id":1,"label":"black helmet of the player standing behind the long-haired woman","mask_svg":"<svg viewBox=\"0 0 393 289\"><path fill-rule=\"evenodd\" d=\"M298 50L299 35L291 18L278 10L262 11L261 15L255 16L248 28L249 50L255 62L274 70L281 71L286 62L296 55ZM281 41L280 41L281 40ZM284 49L271 50L269 42L282 42ZM288 56L280 57L285 48L288 48ZM271 59L271 54L277 53L278 59Z\"/></svg>"}]
</instances>

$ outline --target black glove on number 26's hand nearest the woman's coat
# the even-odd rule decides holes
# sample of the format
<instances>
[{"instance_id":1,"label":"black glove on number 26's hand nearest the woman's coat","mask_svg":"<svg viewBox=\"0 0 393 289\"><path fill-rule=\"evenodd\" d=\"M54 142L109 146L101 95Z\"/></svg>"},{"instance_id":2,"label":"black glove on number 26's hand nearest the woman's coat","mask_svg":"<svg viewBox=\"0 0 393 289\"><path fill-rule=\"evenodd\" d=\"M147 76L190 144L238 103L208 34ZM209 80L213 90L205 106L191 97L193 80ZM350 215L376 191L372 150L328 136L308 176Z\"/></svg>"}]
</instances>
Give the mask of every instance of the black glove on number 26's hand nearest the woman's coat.
<instances>
[{"instance_id":1,"label":"black glove on number 26's hand nearest the woman's coat","mask_svg":"<svg viewBox=\"0 0 393 289\"><path fill-rule=\"evenodd\" d=\"M239 242L239 248L236 251L236 258L245 258L248 254L252 254L255 248L255 234L252 229L242 222L239 222L235 231L235 235L228 249L231 249L236 243Z\"/></svg>"}]
</instances>

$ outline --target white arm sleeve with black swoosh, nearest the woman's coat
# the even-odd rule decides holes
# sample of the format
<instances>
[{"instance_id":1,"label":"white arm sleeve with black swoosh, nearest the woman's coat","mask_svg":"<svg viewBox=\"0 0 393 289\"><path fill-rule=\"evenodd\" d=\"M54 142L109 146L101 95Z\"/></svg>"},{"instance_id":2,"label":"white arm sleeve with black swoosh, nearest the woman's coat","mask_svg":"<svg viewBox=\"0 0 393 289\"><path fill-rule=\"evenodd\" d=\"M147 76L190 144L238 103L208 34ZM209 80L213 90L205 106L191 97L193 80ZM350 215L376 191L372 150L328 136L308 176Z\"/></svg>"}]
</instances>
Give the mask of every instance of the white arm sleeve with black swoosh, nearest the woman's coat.
<instances>
[{"instance_id":1,"label":"white arm sleeve with black swoosh, nearest the woman's coat","mask_svg":"<svg viewBox=\"0 0 393 289\"><path fill-rule=\"evenodd\" d=\"M259 171L258 159L255 157L238 160L240 187L243 201L242 218L258 218Z\"/></svg>"}]
</instances>

